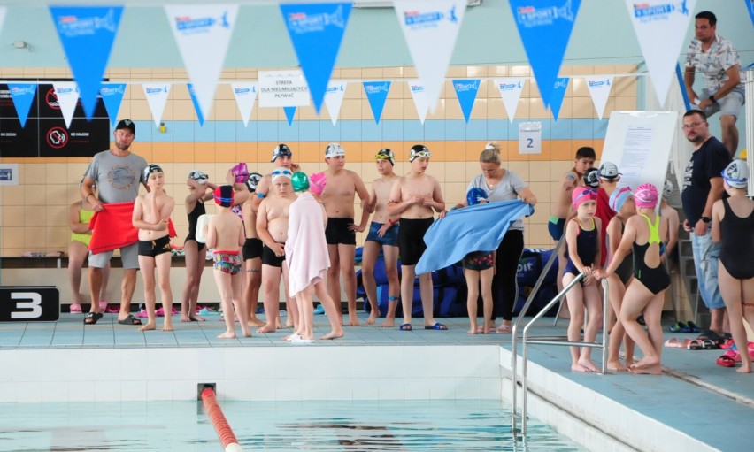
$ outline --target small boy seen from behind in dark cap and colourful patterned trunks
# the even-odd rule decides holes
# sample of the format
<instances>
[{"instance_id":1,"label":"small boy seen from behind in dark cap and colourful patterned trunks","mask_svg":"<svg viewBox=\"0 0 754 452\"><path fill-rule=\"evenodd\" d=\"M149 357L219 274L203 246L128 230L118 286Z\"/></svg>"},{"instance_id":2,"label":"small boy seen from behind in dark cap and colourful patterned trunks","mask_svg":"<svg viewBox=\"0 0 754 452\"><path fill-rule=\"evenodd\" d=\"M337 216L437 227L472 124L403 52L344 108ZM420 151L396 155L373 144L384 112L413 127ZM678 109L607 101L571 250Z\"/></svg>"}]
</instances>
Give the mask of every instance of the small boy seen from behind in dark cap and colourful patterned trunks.
<instances>
[{"instance_id":1,"label":"small boy seen from behind in dark cap and colourful patterned trunks","mask_svg":"<svg viewBox=\"0 0 754 452\"><path fill-rule=\"evenodd\" d=\"M207 246L214 249L215 284L217 284L222 310L225 313L225 333L218 339L234 339L235 316L241 324L243 337L251 337L248 326L246 306L242 296L241 247L243 246L243 225L241 218L230 210L233 205L234 189L230 185L215 188L213 197L217 204L217 213L207 226Z\"/></svg>"}]
</instances>

